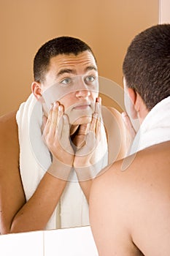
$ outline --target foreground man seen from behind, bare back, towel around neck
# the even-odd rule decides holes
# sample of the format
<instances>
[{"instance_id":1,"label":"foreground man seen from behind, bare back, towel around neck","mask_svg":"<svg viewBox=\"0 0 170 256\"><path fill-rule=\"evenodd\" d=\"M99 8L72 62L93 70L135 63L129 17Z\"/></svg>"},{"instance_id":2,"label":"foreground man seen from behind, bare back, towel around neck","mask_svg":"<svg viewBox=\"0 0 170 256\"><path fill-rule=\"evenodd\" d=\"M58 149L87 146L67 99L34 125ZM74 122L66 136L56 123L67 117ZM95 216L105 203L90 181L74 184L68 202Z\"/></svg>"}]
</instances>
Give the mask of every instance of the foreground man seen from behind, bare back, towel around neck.
<instances>
[{"instance_id":1,"label":"foreground man seen from behind, bare back, towel around neck","mask_svg":"<svg viewBox=\"0 0 170 256\"><path fill-rule=\"evenodd\" d=\"M102 256L170 255L169 42L169 24L152 26L125 55L125 105L141 127L130 156L93 181L90 224Z\"/></svg>"}]
</instances>

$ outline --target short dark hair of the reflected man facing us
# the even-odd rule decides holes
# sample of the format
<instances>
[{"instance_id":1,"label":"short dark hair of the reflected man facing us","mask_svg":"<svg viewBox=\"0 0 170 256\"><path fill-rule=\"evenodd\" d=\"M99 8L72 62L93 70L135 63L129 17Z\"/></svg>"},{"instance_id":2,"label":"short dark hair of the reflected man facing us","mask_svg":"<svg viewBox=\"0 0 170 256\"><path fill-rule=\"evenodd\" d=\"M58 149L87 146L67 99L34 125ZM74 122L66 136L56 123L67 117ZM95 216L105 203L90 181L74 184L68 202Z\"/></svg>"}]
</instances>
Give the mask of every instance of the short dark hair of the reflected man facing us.
<instances>
[{"instance_id":1,"label":"short dark hair of the reflected man facing us","mask_svg":"<svg viewBox=\"0 0 170 256\"><path fill-rule=\"evenodd\" d=\"M44 80L51 58L59 54L69 55L73 53L77 56L85 50L90 51L95 59L90 46L80 39L74 37L57 37L45 42L34 57L34 80L39 83Z\"/></svg>"}]
</instances>

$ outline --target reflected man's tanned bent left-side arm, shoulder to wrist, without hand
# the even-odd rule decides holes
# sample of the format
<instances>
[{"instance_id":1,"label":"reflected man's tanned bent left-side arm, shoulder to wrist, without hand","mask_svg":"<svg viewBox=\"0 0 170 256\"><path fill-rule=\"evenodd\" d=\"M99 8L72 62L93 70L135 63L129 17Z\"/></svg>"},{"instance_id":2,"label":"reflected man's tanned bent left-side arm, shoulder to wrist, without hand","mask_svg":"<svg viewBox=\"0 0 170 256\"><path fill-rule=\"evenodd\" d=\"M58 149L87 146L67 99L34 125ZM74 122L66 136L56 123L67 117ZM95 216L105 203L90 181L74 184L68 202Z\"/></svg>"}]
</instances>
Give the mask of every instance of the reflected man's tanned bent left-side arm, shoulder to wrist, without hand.
<instances>
[{"instance_id":1,"label":"reflected man's tanned bent left-side arm, shoulder to wrist, without hand","mask_svg":"<svg viewBox=\"0 0 170 256\"><path fill-rule=\"evenodd\" d=\"M18 164L15 113L1 117L0 124L0 233L43 230L58 204L66 181L50 174L53 168L56 170L58 167L54 161L26 203Z\"/></svg>"}]
</instances>

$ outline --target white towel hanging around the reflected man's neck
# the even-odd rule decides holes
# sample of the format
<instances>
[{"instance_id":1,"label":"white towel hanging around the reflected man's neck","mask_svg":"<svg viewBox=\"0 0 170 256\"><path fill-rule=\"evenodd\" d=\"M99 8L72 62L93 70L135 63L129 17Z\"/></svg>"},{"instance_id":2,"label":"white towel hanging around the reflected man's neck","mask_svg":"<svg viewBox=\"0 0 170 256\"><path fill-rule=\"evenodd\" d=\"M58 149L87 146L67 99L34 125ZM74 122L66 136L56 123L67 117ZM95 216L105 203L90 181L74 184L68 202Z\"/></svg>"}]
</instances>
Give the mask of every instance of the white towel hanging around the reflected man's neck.
<instances>
[{"instance_id":1,"label":"white towel hanging around the reflected man's neck","mask_svg":"<svg viewBox=\"0 0 170 256\"><path fill-rule=\"evenodd\" d=\"M26 200L34 194L39 181L51 165L50 152L42 141L42 115L42 105L37 102L33 94L20 105L17 113L20 176ZM107 161L105 154L100 170L107 165ZM88 203L74 170L69 179L71 181L68 181L61 200L47 223L46 230L89 225Z\"/></svg>"}]
</instances>

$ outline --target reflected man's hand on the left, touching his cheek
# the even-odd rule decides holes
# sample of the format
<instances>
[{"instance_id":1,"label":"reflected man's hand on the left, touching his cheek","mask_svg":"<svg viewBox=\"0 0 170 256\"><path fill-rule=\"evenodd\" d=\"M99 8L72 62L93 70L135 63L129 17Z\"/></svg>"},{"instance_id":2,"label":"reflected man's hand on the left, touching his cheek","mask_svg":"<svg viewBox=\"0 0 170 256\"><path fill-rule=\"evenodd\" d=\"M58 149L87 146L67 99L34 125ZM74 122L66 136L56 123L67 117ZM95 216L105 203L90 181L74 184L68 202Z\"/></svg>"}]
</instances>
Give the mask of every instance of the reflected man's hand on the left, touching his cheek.
<instances>
[{"instance_id":1,"label":"reflected man's hand on the left, touching his cheek","mask_svg":"<svg viewBox=\"0 0 170 256\"><path fill-rule=\"evenodd\" d=\"M69 140L69 119L59 102L55 102L50 108L42 136L53 155L53 175L62 178L61 169L70 171L73 166L74 150ZM66 176L63 175L63 178Z\"/></svg>"}]
</instances>

